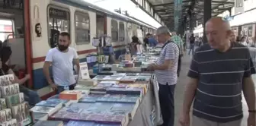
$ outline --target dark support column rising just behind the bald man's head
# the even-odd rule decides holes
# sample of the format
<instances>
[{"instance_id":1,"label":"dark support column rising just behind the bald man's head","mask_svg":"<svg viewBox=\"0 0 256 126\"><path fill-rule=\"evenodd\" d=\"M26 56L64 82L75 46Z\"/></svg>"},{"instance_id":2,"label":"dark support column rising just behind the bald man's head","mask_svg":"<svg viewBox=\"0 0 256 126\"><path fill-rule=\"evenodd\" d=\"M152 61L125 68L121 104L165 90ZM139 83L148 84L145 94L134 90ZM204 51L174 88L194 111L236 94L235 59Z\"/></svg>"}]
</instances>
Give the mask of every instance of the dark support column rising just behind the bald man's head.
<instances>
[{"instance_id":1,"label":"dark support column rising just behind the bald man's head","mask_svg":"<svg viewBox=\"0 0 256 126\"><path fill-rule=\"evenodd\" d=\"M203 5L203 43L207 43L205 24L212 17L212 0L204 0Z\"/></svg>"}]
</instances>

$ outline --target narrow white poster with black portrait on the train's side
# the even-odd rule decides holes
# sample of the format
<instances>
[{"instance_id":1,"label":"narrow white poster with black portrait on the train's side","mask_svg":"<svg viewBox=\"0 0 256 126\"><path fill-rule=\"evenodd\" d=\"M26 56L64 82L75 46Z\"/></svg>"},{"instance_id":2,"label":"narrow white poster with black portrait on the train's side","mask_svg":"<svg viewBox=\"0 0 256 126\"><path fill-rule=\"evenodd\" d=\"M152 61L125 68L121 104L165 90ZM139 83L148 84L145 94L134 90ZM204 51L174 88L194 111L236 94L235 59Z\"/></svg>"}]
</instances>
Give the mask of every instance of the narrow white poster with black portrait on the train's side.
<instances>
[{"instance_id":1,"label":"narrow white poster with black portrait on the train's side","mask_svg":"<svg viewBox=\"0 0 256 126\"><path fill-rule=\"evenodd\" d=\"M38 41L42 38L42 26L40 23L39 7L34 5L34 17L32 19L32 33L34 40Z\"/></svg>"}]
</instances>

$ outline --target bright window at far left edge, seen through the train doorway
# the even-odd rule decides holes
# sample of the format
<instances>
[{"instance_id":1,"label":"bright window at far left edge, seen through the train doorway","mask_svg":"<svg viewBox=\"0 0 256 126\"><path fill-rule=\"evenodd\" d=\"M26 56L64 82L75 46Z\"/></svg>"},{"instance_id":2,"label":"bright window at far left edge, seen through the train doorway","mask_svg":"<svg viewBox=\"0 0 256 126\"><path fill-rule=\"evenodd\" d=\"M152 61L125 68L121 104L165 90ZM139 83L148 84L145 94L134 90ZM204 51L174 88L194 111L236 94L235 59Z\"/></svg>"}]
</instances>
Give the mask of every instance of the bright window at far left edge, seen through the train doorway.
<instances>
[{"instance_id":1,"label":"bright window at far left edge, seen through the train doorway","mask_svg":"<svg viewBox=\"0 0 256 126\"><path fill-rule=\"evenodd\" d=\"M12 20L0 20L0 40L11 39L14 33Z\"/></svg>"}]
</instances>

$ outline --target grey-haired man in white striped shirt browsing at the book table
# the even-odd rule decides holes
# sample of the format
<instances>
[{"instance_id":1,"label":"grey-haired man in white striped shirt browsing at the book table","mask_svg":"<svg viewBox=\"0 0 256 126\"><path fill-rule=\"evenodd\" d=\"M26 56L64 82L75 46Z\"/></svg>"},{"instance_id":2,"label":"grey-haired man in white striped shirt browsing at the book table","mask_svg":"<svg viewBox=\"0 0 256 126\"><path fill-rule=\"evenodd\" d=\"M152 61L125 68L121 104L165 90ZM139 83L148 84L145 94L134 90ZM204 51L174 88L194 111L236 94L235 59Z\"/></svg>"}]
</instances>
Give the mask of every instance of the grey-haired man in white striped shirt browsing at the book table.
<instances>
[{"instance_id":1,"label":"grey-haired man in white striped shirt browsing at the book table","mask_svg":"<svg viewBox=\"0 0 256 126\"><path fill-rule=\"evenodd\" d=\"M171 42L167 27L156 30L158 43L163 43L161 54L156 64L149 65L149 71L155 71L159 87L159 102L164 123L162 126L174 125L174 89L177 83L179 48Z\"/></svg>"}]
</instances>

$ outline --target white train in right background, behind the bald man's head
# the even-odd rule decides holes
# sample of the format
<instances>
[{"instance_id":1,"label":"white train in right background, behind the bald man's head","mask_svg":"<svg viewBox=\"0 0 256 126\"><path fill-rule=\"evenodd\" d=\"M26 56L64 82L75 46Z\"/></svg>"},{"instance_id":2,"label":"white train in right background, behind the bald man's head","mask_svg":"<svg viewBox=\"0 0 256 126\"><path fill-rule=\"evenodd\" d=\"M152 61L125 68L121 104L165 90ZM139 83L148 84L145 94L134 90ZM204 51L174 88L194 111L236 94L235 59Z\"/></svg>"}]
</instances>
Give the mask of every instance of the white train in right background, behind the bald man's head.
<instances>
[{"instance_id":1,"label":"white train in right background, behind the bald man's head","mask_svg":"<svg viewBox=\"0 0 256 126\"><path fill-rule=\"evenodd\" d=\"M238 41L242 38L242 36L246 36L248 41L255 43L256 17L254 14L256 14L256 8L245 11L245 13L236 14L234 15L233 19L229 21L235 36L237 36ZM194 35L203 36L202 25L198 26L194 30Z\"/></svg>"}]
</instances>

